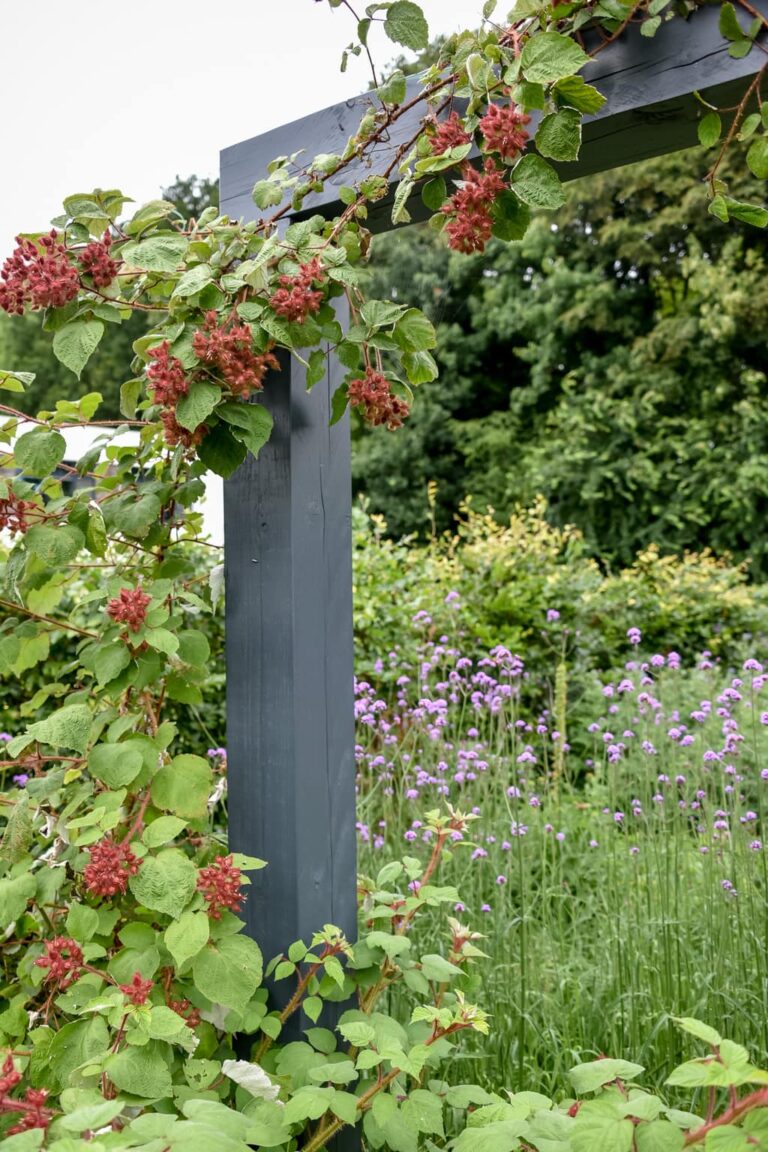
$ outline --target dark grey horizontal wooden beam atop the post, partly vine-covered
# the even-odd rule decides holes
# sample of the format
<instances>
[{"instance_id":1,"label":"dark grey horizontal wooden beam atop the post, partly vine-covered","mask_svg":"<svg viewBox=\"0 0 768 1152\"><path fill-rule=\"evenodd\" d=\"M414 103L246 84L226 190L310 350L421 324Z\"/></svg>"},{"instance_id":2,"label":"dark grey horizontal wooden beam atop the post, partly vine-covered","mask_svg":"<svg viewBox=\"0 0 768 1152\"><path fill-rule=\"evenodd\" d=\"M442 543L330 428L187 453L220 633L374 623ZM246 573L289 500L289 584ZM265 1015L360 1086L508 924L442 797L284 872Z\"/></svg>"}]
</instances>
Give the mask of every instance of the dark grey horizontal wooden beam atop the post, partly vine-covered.
<instances>
[{"instance_id":1,"label":"dark grey horizontal wooden beam atop the post, partly vine-covered","mask_svg":"<svg viewBox=\"0 0 768 1152\"><path fill-rule=\"evenodd\" d=\"M768 15L768 0L754 0L754 5ZM766 56L754 48L748 56L733 60L717 28L718 10L718 6L701 8L686 21L671 20L652 39L641 36L639 26L632 26L587 66L583 75L600 89L607 103L598 115L585 119L581 154L575 164L560 166L563 179L575 180L695 144L695 122L701 114L701 105L693 96L697 91L720 107L738 103ZM418 81L412 78L409 96L417 91ZM271 160L302 149L307 160L321 152L342 152L370 103L368 94L358 96L225 149L222 211L233 218L252 219L256 212L251 190L266 175ZM377 147L370 167L350 165L329 180L321 194L307 197L295 219L313 212L336 215L342 210L339 185L382 172L397 146L413 136L423 114L420 105L397 121L388 142ZM368 226L374 232L391 227L389 209L395 187L393 181L389 196L371 210ZM409 210L415 220L429 214L418 195L412 197Z\"/></svg>"}]
</instances>

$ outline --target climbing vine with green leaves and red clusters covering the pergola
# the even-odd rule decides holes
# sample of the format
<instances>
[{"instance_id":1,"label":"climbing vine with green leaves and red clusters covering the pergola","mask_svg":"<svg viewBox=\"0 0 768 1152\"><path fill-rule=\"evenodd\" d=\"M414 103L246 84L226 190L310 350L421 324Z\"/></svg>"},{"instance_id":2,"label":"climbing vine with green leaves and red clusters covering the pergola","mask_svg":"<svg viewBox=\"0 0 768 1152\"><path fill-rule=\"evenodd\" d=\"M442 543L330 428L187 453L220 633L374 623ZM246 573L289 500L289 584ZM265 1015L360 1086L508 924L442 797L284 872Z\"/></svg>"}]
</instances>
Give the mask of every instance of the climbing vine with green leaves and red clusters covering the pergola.
<instances>
[{"instance_id":1,"label":"climbing vine with green leaves and red clusters covering the pergola","mask_svg":"<svg viewBox=\"0 0 768 1152\"><path fill-rule=\"evenodd\" d=\"M98 419L98 394L36 417L0 404L0 669L44 666L54 639L70 653L61 677L24 704L26 726L7 734L0 760L0 1135L23 1150L215 1142L318 1152L360 1121L373 1147L396 1152L454 1137L462 1152L578 1152L754 1134L766 1090L737 1090L766 1074L697 1022L684 1025L710 1054L675 1083L713 1090L706 1119L628 1090L641 1069L610 1061L575 1074L596 1100L552 1113L531 1093L509 1102L436 1078L462 1031L488 1028L469 1000L477 934L447 916L443 952L426 954L409 934L425 910L458 902L438 873L446 852L470 842L461 812L431 814L426 861L363 878L357 943L330 925L286 942L268 969L292 982L286 1007L272 1007L258 946L241 933L248 874L263 862L227 851L223 756L178 748L167 718L169 705L200 699L210 651L197 624L220 596L190 550L201 543L205 473L230 476L259 453L272 429L261 397L290 356L309 389L326 379L329 355L344 367L334 420L351 406L397 429L412 389L436 377L435 333L417 309L366 298L368 212L391 192L393 222L404 223L420 197L459 252L522 238L533 211L563 204L555 165L577 159L583 118L604 103L583 75L591 60L630 24L651 38L668 18L698 16L670 0L520 0L501 18L487 0L479 31L451 37L409 89L402 71L380 79L367 38L381 22L395 44L426 48L419 6L388 0L359 14L328 2L353 17L345 55L368 56L374 85L340 154L276 159L253 189L250 221L216 209L184 220L165 200L134 210L116 190L70 196L48 232L18 237L0 271L0 308L39 312L76 377L107 325L146 316L121 420ZM720 28L731 55L762 61L768 21L746 0L721 6ZM729 197L721 166L743 143L755 179L768 177L765 70L736 108L701 100L699 122L713 150L709 211L760 227L768 210ZM394 145L401 122L415 127ZM328 181L343 204L333 219L311 214ZM0 388L13 399L29 379L9 366ZM62 432L79 426L93 430L92 445L67 462ZM100 570L100 585L77 594L86 569ZM408 1025L382 1011L396 982L417 1001ZM352 1003L337 1034L318 1026L327 1000ZM281 1045L299 1009L315 1026ZM238 1059L235 1034L251 1038L250 1059ZM542 1111L548 1119L537 1119Z\"/></svg>"}]
</instances>

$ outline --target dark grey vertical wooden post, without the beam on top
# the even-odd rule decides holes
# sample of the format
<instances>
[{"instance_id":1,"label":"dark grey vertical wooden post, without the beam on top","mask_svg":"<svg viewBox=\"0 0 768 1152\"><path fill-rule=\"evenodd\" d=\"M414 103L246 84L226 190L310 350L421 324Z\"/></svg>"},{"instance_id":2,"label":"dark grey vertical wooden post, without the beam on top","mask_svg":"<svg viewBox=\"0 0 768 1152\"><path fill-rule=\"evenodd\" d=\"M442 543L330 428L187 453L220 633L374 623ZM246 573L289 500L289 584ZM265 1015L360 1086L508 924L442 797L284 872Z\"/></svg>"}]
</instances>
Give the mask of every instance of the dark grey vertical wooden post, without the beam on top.
<instances>
[{"instance_id":1,"label":"dark grey vertical wooden post, without the beam on top","mask_svg":"<svg viewBox=\"0 0 768 1152\"><path fill-rule=\"evenodd\" d=\"M349 424L337 366L311 394L281 366L273 435L225 484L229 844L268 862L244 911L267 960L356 922Z\"/></svg>"}]
</instances>

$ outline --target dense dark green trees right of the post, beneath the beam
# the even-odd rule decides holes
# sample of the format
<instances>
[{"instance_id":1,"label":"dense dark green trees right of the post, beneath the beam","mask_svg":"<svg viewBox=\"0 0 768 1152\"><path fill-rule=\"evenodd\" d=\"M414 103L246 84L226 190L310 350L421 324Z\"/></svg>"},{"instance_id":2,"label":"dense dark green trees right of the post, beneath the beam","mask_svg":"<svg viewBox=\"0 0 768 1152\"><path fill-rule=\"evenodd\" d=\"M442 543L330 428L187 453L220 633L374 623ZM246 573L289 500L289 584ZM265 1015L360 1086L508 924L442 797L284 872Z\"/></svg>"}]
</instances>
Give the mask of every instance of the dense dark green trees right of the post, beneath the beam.
<instances>
[{"instance_id":1,"label":"dense dark green trees right of the post, beneath the beam","mask_svg":"<svg viewBox=\"0 0 768 1152\"><path fill-rule=\"evenodd\" d=\"M608 563L709 545L765 577L766 237L694 206L707 162L578 182L557 226L470 259L427 229L377 241L377 294L440 336L404 434L355 433L355 483L393 533L425 529L435 479L439 526L467 493L501 516L543 493Z\"/></svg>"}]
</instances>

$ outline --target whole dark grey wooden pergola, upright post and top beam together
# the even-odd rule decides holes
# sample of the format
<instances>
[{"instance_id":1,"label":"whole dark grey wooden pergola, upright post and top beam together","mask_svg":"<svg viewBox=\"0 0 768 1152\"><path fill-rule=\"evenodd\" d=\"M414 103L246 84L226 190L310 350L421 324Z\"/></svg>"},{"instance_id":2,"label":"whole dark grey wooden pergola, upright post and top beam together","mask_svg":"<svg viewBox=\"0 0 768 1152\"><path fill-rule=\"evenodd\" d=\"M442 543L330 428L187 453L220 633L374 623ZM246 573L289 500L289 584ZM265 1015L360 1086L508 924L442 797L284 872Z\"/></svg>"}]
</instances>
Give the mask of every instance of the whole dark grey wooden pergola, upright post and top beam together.
<instances>
[{"instance_id":1,"label":"whole dark grey wooden pergola, upright post and top beam together","mask_svg":"<svg viewBox=\"0 0 768 1152\"><path fill-rule=\"evenodd\" d=\"M768 0L753 3L768 13ZM663 24L654 39L631 26L595 58L584 75L608 99L585 122L579 160L561 166L565 179L695 143L697 91L721 107L739 103L768 59L766 41L735 60L717 17L718 7L698 9ZM368 99L225 149L222 211L257 214L251 190L276 156L343 151ZM415 108L395 126L366 175L387 167L419 114ZM362 175L347 169L340 182ZM373 230L391 227L394 190L374 205ZM329 181L294 219L342 207ZM415 221L427 214L418 195L409 210ZM332 361L307 395L302 365L286 357L264 397L273 437L225 485L229 835L234 850L268 861L244 914L267 957L326 923L355 937L350 446L348 420L328 423L341 378Z\"/></svg>"}]
</instances>

